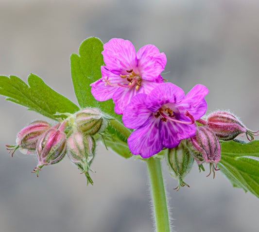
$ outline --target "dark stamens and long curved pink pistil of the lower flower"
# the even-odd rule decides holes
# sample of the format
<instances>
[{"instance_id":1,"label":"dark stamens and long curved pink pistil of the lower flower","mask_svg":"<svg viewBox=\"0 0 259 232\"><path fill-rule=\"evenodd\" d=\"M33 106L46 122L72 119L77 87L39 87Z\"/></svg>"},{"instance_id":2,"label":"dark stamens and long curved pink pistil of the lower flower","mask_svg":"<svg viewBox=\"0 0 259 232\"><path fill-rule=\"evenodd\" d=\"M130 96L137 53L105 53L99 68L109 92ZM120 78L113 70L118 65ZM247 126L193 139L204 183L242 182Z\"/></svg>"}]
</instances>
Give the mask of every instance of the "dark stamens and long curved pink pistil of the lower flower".
<instances>
[{"instance_id":1,"label":"dark stamens and long curved pink pistil of the lower flower","mask_svg":"<svg viewBox=\"0 0 259 232\"><path fill-rule=\"evenodd\" d=\"M182 123L182 124L193 124L195 122L194 117L188 111L184 113L184 116L189 117L191 120L190 122L176 119L175 114L173 113L173 110L170 107L166 107L165 105L159 108L159 110L156 112L155 118L158 118L159 116L161 116L161 120L163 122L166 122L167 120L170 120L172 122Z\"/></svg>"}]
</instances>

